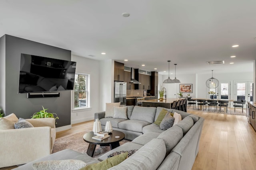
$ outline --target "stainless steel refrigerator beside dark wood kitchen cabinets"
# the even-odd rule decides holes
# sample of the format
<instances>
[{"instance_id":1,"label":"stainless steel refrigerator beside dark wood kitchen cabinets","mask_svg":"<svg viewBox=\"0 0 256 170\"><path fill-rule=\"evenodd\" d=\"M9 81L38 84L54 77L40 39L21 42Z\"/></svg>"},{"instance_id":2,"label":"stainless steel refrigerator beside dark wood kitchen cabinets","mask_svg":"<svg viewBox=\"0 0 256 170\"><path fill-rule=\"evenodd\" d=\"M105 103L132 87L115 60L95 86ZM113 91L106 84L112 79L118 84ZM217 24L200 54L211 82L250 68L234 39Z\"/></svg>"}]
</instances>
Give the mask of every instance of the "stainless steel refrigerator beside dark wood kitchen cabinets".
<instances>
[{"instance_id":1,"label":"stainless steel refrigerator beside dark wood kitchen cabinets","mask_svg":"<svg viewBox=\"0 0 256 170\"><path fill-rule=\"evenodd\" d=\"M126 105L126 82L114 82L114 102Z\"/></svg>"}]
</instances>

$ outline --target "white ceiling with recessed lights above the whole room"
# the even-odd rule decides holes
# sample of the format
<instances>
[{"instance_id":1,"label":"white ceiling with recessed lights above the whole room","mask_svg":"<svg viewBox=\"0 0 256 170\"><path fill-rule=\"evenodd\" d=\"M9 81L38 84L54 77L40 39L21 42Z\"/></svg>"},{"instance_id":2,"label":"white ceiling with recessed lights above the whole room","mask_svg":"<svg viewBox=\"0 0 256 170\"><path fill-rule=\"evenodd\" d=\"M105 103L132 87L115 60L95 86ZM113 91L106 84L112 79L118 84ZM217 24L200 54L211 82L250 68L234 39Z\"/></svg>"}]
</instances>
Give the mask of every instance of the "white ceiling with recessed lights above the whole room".
<instances>
[{"instance_id":1,"label":"white ceiling with recessed lights above the whole room","mask_svg":"<svg viewBox=\"0 0 256 170\"><path fill-rule=\"evenodd\" d=\"M0 36L160 74L168 74L168 60L170 73L178 64L177 75L252 72L255 6L256 0L1 0ZM225 64L206 63L216 60Z\"/></svg>"}]
</instances>

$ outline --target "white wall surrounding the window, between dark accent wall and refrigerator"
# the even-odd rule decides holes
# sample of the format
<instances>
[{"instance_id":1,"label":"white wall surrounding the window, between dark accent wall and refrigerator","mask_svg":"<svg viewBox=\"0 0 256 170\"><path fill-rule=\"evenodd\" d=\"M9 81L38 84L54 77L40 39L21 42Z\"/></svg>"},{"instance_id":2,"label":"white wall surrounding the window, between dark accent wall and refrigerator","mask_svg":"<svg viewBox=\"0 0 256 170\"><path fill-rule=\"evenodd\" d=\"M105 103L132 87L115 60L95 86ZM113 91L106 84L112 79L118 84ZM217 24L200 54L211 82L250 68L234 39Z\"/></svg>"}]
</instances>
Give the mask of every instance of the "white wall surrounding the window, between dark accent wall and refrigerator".
<instances>
[{"instance_id":1,"label":"white wall surrounding the window, between dark accent wall and refrigerator","mask_svg":"<svg viewBox=\"0 0 256 170\"><path fill-rule=\"evenodd\" d=\"M90 108L82 111L71 111L71 124L94 119L94 113L100 109L100 61L92 60L76 55L71 55L71 61L76 61L76 73L90 74ZM73 90L71 91L73 93ZM73 96L73 94L72 94ZM73 106L73 104L72 104Z\"/></svg>"}]
</instances>

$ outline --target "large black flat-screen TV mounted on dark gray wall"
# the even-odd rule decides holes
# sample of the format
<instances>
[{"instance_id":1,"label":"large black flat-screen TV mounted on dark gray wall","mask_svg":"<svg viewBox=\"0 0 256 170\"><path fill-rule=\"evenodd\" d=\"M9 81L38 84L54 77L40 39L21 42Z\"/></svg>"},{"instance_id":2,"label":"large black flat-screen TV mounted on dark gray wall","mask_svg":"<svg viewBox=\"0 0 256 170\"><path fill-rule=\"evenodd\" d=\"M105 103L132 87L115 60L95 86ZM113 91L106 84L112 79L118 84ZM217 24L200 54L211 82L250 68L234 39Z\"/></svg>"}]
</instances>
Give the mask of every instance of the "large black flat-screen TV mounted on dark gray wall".
<instances>
[{"instance_id":1,"label":"large black flat-screen TV mounted on dark gray wall","mask_svg":"<svg viewBox=\"0 0 256 170\"><path fill-rule=\"evenodd\" d=\"M73 90L76 62L20 55L19 94Z\"/></svg>"}]
</instances>

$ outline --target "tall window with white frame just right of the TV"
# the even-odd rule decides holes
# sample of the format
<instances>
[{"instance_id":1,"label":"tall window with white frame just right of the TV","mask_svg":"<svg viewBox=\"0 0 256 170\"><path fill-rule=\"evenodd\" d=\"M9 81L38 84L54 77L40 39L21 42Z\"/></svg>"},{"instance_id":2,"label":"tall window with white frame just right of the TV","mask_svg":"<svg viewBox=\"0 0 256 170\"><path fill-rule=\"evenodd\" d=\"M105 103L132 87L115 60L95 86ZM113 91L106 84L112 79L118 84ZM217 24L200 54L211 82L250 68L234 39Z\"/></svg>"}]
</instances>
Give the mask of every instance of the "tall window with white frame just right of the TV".
<instances>
[{"instance_id":1,"label":"tall window with white frame just right of the TV","mask_svg":"<svg viewBox=\"0 0 256 170\"><path fill-rule=\"evenodd\" d=\"M74 109L89 107L88 101L89 74L76 74L74 84Z\"/></svg>"}]
</instances>

